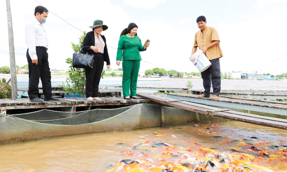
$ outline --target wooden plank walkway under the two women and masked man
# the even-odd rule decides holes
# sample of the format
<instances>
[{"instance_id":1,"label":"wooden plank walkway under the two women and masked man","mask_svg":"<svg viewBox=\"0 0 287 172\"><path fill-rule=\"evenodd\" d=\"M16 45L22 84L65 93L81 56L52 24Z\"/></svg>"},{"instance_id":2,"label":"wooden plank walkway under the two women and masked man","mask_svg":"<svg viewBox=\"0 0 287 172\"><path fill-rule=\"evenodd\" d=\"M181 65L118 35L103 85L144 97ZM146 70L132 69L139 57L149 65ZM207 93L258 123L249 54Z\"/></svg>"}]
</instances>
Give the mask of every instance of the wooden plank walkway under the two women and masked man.
<instances>
[{"instance_id":1,"label":"wooden plank walkway under the two women and masked man","mask_svg":"<svg viewBox=\"0 0 287 172\"><path fill-rule=\"evenodd\" d=\"M60 98L59 101L30 102L29 98L0 99L0 110L9 109L31 109L31 108L55 108L55 107L77 107L77 106L105 106L105 105L133 105L139 103L154 103L150 100L138 98L137 100L126 100L123 97L100 97L99 100L87 100L87 98Z\"/></svg>"}]
</instances>

